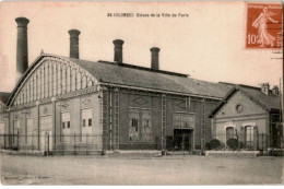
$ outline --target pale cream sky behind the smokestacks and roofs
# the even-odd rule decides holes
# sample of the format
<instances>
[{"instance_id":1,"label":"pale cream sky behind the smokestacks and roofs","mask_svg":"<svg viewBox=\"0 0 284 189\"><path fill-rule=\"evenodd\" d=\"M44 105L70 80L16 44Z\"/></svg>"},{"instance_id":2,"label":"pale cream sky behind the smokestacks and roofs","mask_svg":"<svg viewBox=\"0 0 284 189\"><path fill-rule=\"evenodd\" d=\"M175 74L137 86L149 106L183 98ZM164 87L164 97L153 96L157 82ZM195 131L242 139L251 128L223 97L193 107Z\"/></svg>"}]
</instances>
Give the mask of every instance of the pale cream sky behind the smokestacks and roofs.
<instances>
[{"instance_id":1,"label":"pale cream sky behind the smokestacks and roofs","mask_svg":"<svg viewBox=\"0 0 284 189\"><path fill-rule=\"evenodd\" d=\"M107 16L108 13L161 14L159 17ZM162 13L177 14L163 17ZM187 16L178 16L178 14ZM150 67L159 47L161 70L210 82L279 85L282 55L246 49L245 2L1 2L0 91L15 85L16 23L28 24L28 64L46 54L69 56L70 28L81 31L80 58L114 59L113 40L125 40L123 61Z\"/></svg>"}]
</instances>

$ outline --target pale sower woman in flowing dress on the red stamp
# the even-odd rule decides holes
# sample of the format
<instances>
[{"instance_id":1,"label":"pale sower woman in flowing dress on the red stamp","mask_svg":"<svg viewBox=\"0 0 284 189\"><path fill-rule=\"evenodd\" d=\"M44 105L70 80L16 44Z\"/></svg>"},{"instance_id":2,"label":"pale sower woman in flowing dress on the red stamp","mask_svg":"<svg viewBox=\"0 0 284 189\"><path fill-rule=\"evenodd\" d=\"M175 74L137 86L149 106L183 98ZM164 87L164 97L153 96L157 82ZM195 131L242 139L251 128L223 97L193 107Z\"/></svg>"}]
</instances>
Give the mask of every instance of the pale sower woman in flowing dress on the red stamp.
<instances>
[{"instance_id":1,"label":"pale sower woman in flowing dress on the red stamp","mask_svg":"<svg viewBox=\"0 0 284 189\"><path fill-rule=\"evenodd\" d=\"M277 24L279 21L273 20L271 16L275 13L268 11L268 7L264 7L258 19L252 23L252 26L259 28L258 33L258 44L261 44L260 47L265 45L274 46L275 37L269 34L268 32L268 20L274 24Z\"/></svg>"}]
</instances>

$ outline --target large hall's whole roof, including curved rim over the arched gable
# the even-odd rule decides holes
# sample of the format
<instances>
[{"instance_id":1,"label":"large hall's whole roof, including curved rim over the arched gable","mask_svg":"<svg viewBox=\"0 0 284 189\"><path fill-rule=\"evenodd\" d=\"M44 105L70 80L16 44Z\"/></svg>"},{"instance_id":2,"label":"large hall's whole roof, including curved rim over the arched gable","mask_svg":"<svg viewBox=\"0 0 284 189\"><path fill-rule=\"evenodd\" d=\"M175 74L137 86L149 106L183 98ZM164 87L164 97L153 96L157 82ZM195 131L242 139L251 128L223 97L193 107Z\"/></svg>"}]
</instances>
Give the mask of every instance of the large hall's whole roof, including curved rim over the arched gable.
<instances>
[{"instance_id":1,"label":"large hall's whole roof, including curved rim over the arched gable","mask_svg":"<svg viewBox=\"0 0 284 189\"><path fill-rule=\"evenodd\" d=\"M186 74L152 70L150 68L133 64L108 61L87 61L43 54L32 63L32 66L19 80L12 95L9 98L8 105L11 105L16 93L21 90L21 86L26 81L26 78L31 74L31 72L33 72L40 64L42 60L47 57L55 60L75 63L102 84L114 84L123 87L139 87L165 93L177 93L181 95L215 99L222 99L232 88L228 85L221 83L191 79Z\"/></svg>"}]
</instances>

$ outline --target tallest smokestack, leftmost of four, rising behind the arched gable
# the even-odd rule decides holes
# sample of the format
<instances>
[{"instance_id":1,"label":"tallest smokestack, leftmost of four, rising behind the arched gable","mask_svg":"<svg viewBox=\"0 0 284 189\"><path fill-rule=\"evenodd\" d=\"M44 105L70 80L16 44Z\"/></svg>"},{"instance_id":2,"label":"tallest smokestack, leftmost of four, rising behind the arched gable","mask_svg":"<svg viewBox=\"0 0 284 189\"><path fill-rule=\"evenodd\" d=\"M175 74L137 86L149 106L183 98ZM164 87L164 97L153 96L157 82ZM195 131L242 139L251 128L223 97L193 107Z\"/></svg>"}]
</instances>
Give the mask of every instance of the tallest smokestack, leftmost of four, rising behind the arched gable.
<instances>
[{"instance_id":1,"label":"tallest smokestack, leftmost of four, rising behind the arched gable","mask_svg":"<svg viewBox=\"0 0 284 189\"><path fill-rule=\"evenodd\" d=\"M28 19L16 17L17 38L16 38L16 80L24 74L28 68L28 51L27 51L27 24Z\"/></svg>"}]
</instances>

